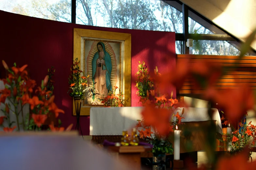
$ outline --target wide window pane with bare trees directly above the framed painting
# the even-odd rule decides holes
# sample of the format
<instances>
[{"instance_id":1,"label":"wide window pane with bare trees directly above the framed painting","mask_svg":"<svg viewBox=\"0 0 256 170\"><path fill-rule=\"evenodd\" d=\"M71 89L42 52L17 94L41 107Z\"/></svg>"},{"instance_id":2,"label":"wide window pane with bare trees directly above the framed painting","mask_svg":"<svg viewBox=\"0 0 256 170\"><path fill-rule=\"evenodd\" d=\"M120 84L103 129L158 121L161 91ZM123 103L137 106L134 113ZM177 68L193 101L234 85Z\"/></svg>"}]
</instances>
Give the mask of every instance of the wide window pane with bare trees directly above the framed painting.
<instances>
[{"instance_id":1,"label":"wide window pane with bare trees directly above the framed painting","mask_svg":"<svg viewBox=\"0 0 256 170\"><path fill-rule=\"evenodd\" d=\"M182 33L182 13L155 0L77 0L76 23Z\"/></svg>"}]
</instances>

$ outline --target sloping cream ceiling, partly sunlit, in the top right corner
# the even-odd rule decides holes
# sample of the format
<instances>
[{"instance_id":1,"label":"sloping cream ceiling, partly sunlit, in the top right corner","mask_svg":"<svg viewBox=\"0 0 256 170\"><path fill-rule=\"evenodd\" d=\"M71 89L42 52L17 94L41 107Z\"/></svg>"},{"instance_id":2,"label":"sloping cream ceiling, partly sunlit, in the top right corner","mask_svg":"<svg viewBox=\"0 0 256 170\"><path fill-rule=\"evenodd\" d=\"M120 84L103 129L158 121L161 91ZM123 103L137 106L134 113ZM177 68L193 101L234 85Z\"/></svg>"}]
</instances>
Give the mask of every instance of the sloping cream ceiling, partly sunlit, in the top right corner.
<instances>
[{"instance_id":1,"label":"sloping cream ceiling, partly sunlit, in the top right corner","mask_svg":"<svg viewBox=\"0 0 256 170\"><path fill-rule=\"evenodd\" d=\"M245 42L256 29L256 0L180 0ZM251 44L256 50L256 40Z\"/></svg>"}]
</instances>

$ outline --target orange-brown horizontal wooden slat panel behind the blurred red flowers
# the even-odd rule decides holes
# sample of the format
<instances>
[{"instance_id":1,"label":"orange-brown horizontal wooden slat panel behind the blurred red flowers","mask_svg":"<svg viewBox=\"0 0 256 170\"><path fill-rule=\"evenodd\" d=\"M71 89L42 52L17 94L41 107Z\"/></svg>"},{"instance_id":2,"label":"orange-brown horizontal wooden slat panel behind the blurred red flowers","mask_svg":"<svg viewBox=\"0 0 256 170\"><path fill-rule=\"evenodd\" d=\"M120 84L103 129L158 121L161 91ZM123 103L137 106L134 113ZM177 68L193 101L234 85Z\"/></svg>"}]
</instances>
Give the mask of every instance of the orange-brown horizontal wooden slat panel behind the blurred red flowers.
<instances>
[{"instance_id":1,"label":"orange-brown horizontal wooden slat panel behind the blurred red flowers","mask_svg":"<svg viewBox=\"0 0 256 170\"><path fill-rule=\"evenodd\" d=\"M216 56L216 55L177 55L177 62L185 61L187 58L192 59L191 62L212 62L219 63L225 67L226 75L222 76L214 84L215 89L236 89L248 83L253 90L256 90L256 57L246 56L238 60L238 56ZM234 63L239 62L235 68ZM177 89L177 94L202 94L204 90L196 90L195 82L192 77L187 77L181 89Z\"/></svg>"}]
</instances>

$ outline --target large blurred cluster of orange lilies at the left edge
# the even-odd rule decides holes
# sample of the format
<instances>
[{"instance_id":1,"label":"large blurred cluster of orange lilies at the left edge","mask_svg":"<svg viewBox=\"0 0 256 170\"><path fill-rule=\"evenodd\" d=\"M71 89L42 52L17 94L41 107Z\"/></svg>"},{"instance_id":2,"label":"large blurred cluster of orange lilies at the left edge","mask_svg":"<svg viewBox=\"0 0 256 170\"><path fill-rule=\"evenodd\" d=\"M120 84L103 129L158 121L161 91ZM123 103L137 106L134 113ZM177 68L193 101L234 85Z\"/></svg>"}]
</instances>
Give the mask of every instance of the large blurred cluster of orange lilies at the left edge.
<instances>
[{"instance_id":1,"label":"large blurred cluster of orange lilies at the left edge","mask_svg":"<svg viewBox=\"0 0 256 170\"><path fill-rule=\"evenodd\" d=\"M5 108L2 110L5 116L0 117L0 125L3 126L4 120L7 120L8 126L4 127L5 132L12 132L16 129L13 123L17 124L18 131L21 131L20 125L22 125L23 130L41 130L43 123L50 117L50 114L54 114L57 118L59 113L64 113L53 102L54 95L49 100L45 99L45 95L51 93L51 91L46 89L48 75L42 80L41 87L35 90L37 95L32 96L36 82L28 78L27 71L25 70L27 65L17 67L14 63L14 66L9 68L4 61L2 63L9 72L8 77L3 79L5 89L0 90L0 104L5 105ZM31 119L28 113L23 113L23 108L26 104L29 104L29 109L32 112ZM16 116L16 121L10 119L11 113ZM21 120L19 118L20 115ZM70 126L72 127L72 125Z\"/></svg>"}]
</instances>

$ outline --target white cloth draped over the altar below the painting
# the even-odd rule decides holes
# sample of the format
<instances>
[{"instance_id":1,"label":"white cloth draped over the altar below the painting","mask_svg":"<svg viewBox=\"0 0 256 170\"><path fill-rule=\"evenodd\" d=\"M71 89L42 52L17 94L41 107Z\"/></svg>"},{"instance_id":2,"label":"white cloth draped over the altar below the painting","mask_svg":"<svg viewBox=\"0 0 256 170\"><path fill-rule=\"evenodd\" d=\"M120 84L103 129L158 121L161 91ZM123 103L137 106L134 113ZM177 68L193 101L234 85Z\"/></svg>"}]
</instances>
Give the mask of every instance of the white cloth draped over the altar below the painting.
<instances>
[{"instance_id":1,"label":"white cloth draped over the altar below the painting","mask_svg":"<svg viewBox=\"0 0 256 170\"><path fill-rule=\"evenodd\" d=\"M143 107L91 107L90 135L122 135L124 129L129 130L136 126L137 120L142 120ZM181 115L183 107L175 109ZM207 108L187 107L182 115L181 122L211 120ZM175 120L176 117L174 117ZM213 108L212 120L216 120L216 132L222 133L219 112Z\"/></svg>"}]
</instances>

